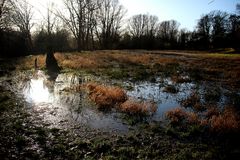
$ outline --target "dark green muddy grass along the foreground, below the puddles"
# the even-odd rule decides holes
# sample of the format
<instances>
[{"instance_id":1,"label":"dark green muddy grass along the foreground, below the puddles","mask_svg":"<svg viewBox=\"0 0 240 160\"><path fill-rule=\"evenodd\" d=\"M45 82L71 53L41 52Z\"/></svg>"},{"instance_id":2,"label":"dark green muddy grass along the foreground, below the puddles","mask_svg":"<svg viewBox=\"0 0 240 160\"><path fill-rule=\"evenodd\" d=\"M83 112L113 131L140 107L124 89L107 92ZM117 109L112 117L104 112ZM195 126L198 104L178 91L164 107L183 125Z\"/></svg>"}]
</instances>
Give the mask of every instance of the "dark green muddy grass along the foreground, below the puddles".
<instances>
[{"instance_id":1,"label":"dark green muddy grass along the foreground, below the puddles","mask_svg":"<svg viewBox=\"0 0 240 160\"><path fill-rule=\"evenodd\" d=\"M30 115L16 97L11 96L9 100L13 108L2 112L0 117L3 159L218 159L225 156L216 142L179 139L158 123L142 125L126 135L88 128L80 131L49 128L41 117Z\"/></svg>"}]
</instances>

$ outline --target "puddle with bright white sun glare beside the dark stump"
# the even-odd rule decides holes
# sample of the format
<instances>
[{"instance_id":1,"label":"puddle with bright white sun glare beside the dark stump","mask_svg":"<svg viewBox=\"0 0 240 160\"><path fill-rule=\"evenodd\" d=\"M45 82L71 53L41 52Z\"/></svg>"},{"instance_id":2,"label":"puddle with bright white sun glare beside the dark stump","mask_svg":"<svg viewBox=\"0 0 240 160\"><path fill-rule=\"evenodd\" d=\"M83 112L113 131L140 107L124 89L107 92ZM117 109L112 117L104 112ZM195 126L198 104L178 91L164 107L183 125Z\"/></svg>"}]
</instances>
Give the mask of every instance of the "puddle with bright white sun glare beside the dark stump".
<instances>
[{"instance_id":1,"label":"puddle with bright white sun glare beside the dark stump","mask_svg":"<svg viewBox=\"0 0 240 160\"><path fill-rule=\"evenodd\" d=\"M64 125L87 125L108 131L126 132L117 112L99 112L88 100L85 92L66 92L66 88L91 80L89 76L59 74L55 81L49 81L43 71L38 71L25 82L23 94L32 104L33 111L54 127Z\"/></svg>"}]
</instances>

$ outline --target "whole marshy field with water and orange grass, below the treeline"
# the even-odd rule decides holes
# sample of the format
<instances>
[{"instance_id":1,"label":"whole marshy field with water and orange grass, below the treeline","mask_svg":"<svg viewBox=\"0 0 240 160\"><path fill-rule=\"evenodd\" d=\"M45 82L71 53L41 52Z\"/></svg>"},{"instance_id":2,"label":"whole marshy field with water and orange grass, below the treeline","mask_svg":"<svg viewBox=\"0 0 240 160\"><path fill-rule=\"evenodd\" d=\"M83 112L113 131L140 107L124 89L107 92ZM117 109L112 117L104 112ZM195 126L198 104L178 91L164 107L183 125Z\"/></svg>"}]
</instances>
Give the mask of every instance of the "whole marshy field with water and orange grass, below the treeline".
<instances>
[{"instance_id":1,"label":"whole marshy field with water and orange grass, below the treeline","mask_svg":"<svg viewBox=\"0 0 240 160\"><path fill-rule=\"evenodd\" d=\"M38 69L35 70L35 59ZM238 159L240 55L55 53L1 59L3 159Z\"/></svg>"}]
</instances>

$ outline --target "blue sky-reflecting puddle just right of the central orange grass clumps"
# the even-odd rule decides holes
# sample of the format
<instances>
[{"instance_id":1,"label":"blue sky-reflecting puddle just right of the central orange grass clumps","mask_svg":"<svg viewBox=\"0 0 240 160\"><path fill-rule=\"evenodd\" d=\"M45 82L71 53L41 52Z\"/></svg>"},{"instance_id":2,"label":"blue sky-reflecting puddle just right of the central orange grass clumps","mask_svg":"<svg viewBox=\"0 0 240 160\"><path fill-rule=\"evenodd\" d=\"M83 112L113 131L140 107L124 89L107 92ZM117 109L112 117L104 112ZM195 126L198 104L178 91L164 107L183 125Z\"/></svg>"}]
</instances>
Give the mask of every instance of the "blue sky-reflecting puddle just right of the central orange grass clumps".
<instances>
[{"instance_id":1,"label":"blue sky-reflecting puddle just right of the central orange grass clumps","mask_svg":"<svg viewBox=\"0 0 240 160\"><path fill-rule=\"evenodd\" d=\"M174 84L170 79L157 80L156 83L126 83L133 86L133 90L127 94L140 100L152 100L157 103L158 109L152 119L155 121L163 120L165 113L171 109L180 106L179 101L191 94L195 88L193 83ZM165 86L175 85L178 89L177 93L168 93L164 91Z\"/></svg>"}]
</instances>

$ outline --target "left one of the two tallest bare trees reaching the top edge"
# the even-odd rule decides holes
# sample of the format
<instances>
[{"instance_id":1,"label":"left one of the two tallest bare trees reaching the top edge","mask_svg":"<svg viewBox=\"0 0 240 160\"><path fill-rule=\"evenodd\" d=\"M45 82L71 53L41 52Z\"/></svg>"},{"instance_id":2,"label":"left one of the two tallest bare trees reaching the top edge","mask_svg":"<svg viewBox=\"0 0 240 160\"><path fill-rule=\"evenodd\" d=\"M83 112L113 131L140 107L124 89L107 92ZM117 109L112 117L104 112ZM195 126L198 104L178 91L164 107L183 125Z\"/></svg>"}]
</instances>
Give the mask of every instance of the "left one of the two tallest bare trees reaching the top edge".
<instances>
[{"instance_id":1,"label":"left one of the two tallest bare trees reaching the top edge","mask_svg":"<svg viewBox=\"0 0 240 160\"><path fill-rule=\"evenodd\" d=\"M96 25L94 12L97 9L97 1L63 0L63 2L68 15L59 12L59 16L75 37L78 51L89 49L89 41L93 41L93 30Z\"/></svg>"}]
</instances>

